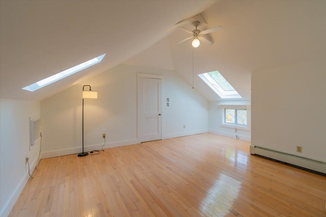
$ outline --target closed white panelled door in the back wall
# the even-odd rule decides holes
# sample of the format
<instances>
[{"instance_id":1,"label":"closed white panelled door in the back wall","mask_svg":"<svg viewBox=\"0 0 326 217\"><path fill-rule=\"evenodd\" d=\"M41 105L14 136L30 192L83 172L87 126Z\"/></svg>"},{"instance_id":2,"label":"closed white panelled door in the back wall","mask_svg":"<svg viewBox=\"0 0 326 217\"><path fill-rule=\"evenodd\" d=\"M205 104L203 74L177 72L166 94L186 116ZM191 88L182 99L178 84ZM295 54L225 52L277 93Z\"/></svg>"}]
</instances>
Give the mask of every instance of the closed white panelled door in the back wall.
<instances>
[{"instance_id":1,"label":"closed white panelled door in the back wall","mask_svg":"<svg viewBox=\"0 0 326 217\"><path fill-rule=\"evenodd\" d=\"M138 142L161 139L161 79L138 78Z\"/></svg>"}]
</instances>

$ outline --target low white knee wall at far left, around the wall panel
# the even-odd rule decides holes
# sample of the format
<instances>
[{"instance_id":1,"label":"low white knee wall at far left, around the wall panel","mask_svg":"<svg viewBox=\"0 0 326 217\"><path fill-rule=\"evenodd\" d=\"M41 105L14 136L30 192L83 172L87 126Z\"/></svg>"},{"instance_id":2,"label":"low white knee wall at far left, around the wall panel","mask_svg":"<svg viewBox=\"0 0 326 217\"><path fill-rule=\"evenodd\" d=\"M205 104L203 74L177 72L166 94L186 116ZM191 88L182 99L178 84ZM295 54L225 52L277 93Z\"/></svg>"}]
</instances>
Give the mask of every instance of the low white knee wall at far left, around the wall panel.
<instances>
[{"instance_id":1,"label":"low white knee wall at far left, around the wall panel","mask_svg":"<svg viewBox=\"0 0 326 217\"><path fill-rule=\"evenodd\" d=\"M36 166L38 147L29 148L29 118L40 115L40 102L0 99L0 111L0 215L7 216L29 179L25 157L32 169Z\"/></svg>"}]
</instances>

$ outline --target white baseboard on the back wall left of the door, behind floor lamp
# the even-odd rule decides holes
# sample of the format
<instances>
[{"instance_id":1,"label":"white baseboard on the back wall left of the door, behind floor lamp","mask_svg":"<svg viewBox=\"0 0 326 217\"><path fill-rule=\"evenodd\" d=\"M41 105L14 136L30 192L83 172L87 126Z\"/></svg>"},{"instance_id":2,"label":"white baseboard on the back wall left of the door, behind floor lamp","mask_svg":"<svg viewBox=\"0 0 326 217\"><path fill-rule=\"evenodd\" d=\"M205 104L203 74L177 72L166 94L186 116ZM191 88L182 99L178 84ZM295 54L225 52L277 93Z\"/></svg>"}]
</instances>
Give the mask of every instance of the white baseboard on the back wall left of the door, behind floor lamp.
<instances>
[{"instance_id":1,"label":"white baseboard on the back wall left of the door, behind floor lamp","mask_svg":"<svg viewBox=\"0 0 326 217\"><path fill-rule=\"evenodd\" d=\"M137 139L124 140L124 141L119 141L119 142L109 142L109 143L105 143L103 148L113 148L113 147L132 145L132 144L137 144L137 143L138 143ZM99 150L102 148L102 146L103 146L103 144L84 146L84 151ZM76 147L76 148L67 148L67 149L61 149L61 150L55 150L55 151L41 152L41 159L59 157L59 156L64 156L64 155L74 154L74 153L80 153L82 151L83 151L82 147Z\"/></svg>"}]
</instances>

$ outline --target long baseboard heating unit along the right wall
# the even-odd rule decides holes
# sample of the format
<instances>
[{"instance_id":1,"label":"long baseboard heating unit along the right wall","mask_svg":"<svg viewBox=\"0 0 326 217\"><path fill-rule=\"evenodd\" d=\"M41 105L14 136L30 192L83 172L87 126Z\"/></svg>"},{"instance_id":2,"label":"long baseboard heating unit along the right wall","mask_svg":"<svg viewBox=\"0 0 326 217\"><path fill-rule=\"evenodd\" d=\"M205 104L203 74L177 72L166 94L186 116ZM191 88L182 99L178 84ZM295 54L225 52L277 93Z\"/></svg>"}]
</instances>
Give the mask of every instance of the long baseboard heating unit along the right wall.
<instances>
[{"instance_id":1,"label":"long baseboard heating unit along the right wall","mask_svg":"<svg viewBox=\"0 0 326 217\"><path fill-rule=\"evenodd\" d=\"M291 166L299 167L302 169L317 172L326 175L326 163L295 156L293 154L283 153L268 148L263 148L255 145L250 145L250 153L260 157L268 158L271 160L279 161Z\"/></svg>"}]
</instances>

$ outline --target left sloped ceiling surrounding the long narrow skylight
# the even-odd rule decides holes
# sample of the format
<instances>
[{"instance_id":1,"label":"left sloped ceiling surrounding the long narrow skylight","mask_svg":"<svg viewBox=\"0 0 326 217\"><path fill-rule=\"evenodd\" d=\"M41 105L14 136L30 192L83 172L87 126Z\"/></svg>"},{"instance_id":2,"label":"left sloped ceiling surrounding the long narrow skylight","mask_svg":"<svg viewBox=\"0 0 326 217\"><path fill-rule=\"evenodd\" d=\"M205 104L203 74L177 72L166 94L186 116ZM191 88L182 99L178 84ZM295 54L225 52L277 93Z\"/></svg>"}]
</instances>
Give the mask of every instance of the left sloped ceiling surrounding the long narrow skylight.
<instances>
[{"instance_id":1,"label":"left sloped ceiling surrounding the long narrow skylight","mask_svg":"<svg viewBox=\"0 0 326 217\"><path fill-rule=\"evenodd\" d=\"M215 1L1 1L1 98L42 100L169 35ZM22 87L106 53L100 64L37 91Z\"/></svg>"}]
</instances>

